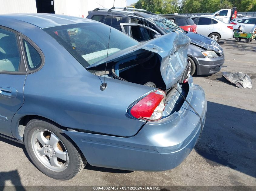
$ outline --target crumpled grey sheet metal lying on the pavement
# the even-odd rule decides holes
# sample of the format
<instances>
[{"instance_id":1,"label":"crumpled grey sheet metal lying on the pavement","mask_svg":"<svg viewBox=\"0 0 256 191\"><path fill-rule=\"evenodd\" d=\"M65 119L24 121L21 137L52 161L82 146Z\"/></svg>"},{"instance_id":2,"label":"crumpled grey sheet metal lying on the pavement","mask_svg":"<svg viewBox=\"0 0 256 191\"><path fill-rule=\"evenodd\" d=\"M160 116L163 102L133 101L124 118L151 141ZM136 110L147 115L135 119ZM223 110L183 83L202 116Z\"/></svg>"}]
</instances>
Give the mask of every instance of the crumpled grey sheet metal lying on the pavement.
<instances>
[{"instance_id":1,"label":"crumpled grey sheet metal lying on the pavement","mask_svg":"<svg viewBox=\"0 0 256 191\"><path fill-rule=\"evenodd\" d=\"M236 84L238 88L252 88L251 78L247 74L233 73L233 72L222 72L223 77L226 78L233 84Z\"/></svg>"}]
</instances>

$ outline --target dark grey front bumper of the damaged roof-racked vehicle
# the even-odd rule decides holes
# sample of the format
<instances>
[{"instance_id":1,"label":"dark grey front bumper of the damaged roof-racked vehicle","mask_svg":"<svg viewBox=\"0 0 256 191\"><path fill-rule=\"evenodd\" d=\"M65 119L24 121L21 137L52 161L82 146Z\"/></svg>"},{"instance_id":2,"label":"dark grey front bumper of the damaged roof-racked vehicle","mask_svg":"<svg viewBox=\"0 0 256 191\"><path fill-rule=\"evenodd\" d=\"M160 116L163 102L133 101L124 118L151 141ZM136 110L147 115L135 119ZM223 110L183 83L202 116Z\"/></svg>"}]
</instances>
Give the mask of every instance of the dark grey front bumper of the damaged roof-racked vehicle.
<instances>
[{"instance_id":1,"label":"dark grey front bumper of the damaged roof-racked vehicle","mask_svg":"<svg viewBox=\"0 0 256 191\"><path fill-rule=\"evenodd\" d=\"M197 75L209 75L217 73L221 70L225 59L224 56L216 58L192 58L197 65Z\"/></svg>"}]
</instances>

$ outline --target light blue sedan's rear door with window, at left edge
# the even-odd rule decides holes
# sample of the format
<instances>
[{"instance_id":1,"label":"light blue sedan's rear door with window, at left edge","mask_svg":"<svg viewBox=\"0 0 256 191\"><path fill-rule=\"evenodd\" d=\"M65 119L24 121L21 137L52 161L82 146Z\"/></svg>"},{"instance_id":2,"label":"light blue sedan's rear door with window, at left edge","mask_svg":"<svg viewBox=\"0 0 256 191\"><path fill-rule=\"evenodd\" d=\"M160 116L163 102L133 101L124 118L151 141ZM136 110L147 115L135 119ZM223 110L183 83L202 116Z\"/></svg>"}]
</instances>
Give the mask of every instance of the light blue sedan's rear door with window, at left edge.
<instances>
[{"instance_id":1,"label":"light blue sedan's rear door with window, at left edge","mask_svg":"<svg viewBox=\"0 0 256 191\"><path fill-rule=\"evenodd\" d=\"M13 137L12 117L24 103L26 69L17 32L0 27L0 133Z\"/></svg>"}]
</instances>

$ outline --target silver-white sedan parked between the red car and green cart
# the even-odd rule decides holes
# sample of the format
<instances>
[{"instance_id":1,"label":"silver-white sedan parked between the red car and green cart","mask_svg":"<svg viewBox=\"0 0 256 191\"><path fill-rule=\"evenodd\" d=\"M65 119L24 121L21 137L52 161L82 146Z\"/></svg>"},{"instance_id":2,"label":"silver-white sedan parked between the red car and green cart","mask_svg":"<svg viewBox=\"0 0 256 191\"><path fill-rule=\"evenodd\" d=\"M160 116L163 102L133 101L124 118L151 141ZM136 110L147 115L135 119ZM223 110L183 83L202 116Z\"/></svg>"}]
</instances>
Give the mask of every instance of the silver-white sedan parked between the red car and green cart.
<instances>
[{"instance_id":1,"label":"silver-white sedan parked between the red car and green cart","mask_svg":"<svg viewBox=\"0 0 256 191\"><path fill-rule=\"evenodd\" d=\"M191 17L197 25L197 33L210 37L219 42L221 39L233 38L233 25L210 16Z\"/></svg>"}]
</instances>

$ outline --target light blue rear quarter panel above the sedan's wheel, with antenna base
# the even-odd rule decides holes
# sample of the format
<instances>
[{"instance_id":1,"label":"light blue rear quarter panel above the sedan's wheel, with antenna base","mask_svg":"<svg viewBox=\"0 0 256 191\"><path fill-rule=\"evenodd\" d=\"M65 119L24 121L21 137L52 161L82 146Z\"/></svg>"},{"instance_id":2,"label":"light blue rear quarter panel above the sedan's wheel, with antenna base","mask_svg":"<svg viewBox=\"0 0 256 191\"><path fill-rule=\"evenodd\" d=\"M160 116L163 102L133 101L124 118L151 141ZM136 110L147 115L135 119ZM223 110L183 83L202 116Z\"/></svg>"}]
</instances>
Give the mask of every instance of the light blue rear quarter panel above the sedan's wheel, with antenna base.
<instances>
[{"instance_id":1,"label":"light blue rear quarter panel above the sedan's wheel, with antenna base","mask_svg":"<svg viewBox=\"0 0 256 191\"><path fill-rule=\"evenodd\" d=\"M24 104L12 120L16 138L21 138L17 135L17 123L26 115L102 134L132 136L138 132L145 122L129 117L127 108L154 88L106 78L108 86L101 91L103 78L88 72L42 29L29 25L17 30L38 45L45 63L39 71L27 75Z\"/></svg>"}]
</instances>

